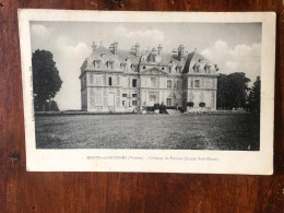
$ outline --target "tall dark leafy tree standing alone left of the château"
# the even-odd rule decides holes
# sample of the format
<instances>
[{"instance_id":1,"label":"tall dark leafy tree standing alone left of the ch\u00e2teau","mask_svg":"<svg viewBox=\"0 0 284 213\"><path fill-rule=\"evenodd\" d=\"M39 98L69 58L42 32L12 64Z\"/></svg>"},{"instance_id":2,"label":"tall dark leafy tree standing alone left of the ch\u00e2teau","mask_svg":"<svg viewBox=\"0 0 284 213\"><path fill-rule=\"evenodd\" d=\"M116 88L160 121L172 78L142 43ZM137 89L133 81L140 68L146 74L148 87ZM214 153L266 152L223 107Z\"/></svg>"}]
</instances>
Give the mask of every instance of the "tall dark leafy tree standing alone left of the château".
<instances>
[{"instance_id":1,"label":"tall dark leafy tree standing alone left of the ch\u00e2teau","mask_svg":"<svg viewBox=\"0 0 284 213\"><path fill-rule=\"evenodd\" d=\"M32 66L35 110L45 111L48 104L55 103L52 98L61 88L62 81L50 51L36 50L33 54Z\"/></svg>"}]
</instances>

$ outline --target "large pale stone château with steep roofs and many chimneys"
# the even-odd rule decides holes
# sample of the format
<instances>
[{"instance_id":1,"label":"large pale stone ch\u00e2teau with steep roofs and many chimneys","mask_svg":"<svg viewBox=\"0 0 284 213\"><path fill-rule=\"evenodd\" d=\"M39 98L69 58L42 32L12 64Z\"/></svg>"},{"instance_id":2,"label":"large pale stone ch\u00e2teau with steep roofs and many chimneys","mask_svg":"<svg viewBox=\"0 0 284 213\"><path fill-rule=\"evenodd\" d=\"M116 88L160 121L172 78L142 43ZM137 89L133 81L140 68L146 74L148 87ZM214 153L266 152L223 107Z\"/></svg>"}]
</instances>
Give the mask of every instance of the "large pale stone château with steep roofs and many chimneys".
<instances>
[{"instance_id":1,"label":"large pale stone ch\u00e2teau with steep roofs and many chimneys","mask_svg":"<svg viewBox=\"0 0 284 213\"><path fill-rule=\"evenodd\" d=\"M163 46L142 51L135 44L121 50L93 43L81 67L81 103L86 111L140 111L164 104L190 110L215 110L217 66L184 45L171 52ZM192 107L193 105L193 107Z\"/></svg>"}]
</instances>

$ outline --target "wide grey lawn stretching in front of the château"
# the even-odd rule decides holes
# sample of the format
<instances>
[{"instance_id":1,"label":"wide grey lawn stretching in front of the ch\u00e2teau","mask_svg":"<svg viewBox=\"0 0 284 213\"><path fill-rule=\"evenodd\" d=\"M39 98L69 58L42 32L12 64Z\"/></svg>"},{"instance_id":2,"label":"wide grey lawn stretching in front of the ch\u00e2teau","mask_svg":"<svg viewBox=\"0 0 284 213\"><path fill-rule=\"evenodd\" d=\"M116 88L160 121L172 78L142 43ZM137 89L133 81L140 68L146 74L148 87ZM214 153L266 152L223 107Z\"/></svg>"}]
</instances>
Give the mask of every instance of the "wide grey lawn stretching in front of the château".
<instances>
[{"instance_id":1,"label":"wide grey lawn stretching in front of the ch\u00e2teau","mask_svg":"<svg viewBox=\"0 0 284 213\"><path fill-rule=\"evenodd\" d=\"M253 115L36 116L37 149L259 150Z\"/></svg>"}]
</instances>

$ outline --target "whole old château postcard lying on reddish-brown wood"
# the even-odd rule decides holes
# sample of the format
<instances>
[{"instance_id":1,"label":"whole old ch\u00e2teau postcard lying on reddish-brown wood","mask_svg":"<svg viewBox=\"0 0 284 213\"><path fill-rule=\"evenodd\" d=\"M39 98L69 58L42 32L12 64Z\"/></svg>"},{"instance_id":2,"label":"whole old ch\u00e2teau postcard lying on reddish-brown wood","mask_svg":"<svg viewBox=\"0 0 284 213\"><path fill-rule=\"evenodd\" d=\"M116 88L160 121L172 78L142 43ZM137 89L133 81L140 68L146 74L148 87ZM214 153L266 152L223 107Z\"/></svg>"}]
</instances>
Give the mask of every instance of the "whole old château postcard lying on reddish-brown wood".
<instances>
[{"instance_id":1,"label":"whole old ch\u00e2teau postcard lying on reddish-brown wood","mask_svg":"<svg viewBox=\"0 0 284 213\"><path fill-rule=\"evenodd\" d=\"M19 10L28 171L273 174L275 13Z\"/></svg>"}]
</instances>

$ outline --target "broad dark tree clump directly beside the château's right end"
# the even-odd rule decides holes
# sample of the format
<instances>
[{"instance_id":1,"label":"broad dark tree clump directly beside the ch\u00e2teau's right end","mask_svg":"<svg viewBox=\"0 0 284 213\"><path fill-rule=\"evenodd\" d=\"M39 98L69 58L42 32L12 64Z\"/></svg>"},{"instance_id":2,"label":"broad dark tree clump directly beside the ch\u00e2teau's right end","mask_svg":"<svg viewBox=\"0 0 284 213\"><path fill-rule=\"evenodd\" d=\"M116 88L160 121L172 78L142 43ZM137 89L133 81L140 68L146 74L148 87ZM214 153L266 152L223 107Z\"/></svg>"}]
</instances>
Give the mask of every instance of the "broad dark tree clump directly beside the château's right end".
<instances>
[{"instance_id":1,"label":"broad dark tree clump directly beside the ch\u00e2teau's right end","mask_svg":"<svg viewBox=\"0 0 284 213\"><path fill-rule=\"evenodd\" d=\"M250 79L244 72L220 74L217 81L217 108L246 107Z\"/></svg>"}]
</instances>

